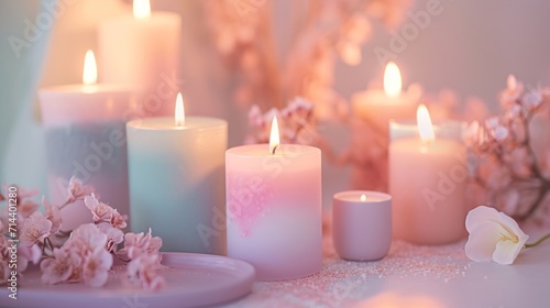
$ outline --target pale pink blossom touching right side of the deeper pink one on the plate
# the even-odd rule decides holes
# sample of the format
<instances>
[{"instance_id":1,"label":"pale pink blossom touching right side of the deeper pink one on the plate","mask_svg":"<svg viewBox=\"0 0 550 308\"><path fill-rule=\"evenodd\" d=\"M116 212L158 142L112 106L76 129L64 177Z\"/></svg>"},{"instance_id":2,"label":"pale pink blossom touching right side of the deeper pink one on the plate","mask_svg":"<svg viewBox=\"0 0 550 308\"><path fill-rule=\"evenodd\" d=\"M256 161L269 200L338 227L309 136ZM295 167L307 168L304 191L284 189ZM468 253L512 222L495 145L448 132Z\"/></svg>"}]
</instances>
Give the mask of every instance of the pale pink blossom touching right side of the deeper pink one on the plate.
<instances>
[{"instance_id":1,"label":"pale pink blossom touching right side of the deeper pink one on the plate","mask_svg":"<svg viewBox=\"0 0 550 308\"><path fill-rule=\"evenodd\" d=\"M102 246L97 246L84 258L82 280L91 287L105 285L112 266L112 255Z\"/></svg>"}]
</instances>

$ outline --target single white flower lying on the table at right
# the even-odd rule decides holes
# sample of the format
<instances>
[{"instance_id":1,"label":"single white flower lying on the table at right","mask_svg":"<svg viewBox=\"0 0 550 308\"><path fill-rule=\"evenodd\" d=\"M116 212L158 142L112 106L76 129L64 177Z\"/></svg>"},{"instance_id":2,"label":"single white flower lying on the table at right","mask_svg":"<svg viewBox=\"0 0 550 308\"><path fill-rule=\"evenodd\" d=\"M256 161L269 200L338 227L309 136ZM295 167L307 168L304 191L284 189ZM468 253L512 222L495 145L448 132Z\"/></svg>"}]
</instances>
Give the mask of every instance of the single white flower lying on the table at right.
<instances>
[{"instance_id":1,"label":"single white flower lying on the table at right","mask_svg":"<svg viewBox=\"0 0 550 308\"><path fill-rule=\"evenodd\" d=\"M468 213L466 230L470 237L464 250L476 262L512 264L529 239L514 219L485 206Z\"/></svg>"}]
</instances>

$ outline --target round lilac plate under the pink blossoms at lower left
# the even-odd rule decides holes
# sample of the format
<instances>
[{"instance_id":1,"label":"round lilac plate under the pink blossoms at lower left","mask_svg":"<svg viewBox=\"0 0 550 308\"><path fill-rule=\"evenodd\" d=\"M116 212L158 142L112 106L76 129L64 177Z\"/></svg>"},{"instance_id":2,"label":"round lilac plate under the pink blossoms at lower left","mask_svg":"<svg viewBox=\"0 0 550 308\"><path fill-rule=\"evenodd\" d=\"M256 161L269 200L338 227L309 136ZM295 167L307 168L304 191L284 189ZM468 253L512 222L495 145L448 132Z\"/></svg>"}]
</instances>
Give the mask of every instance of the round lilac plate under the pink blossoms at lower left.
<instances>
[{"instance_id":1,"label":"round lilac plate under the pink blossoms at lower left","mask_svg":"<svg viewBox=\"0 0 550 308\"><path fill-rule=\"evenodd\" d=\"M0 289L1 307L153 308L220 304L250 293L255 278L252 265L219 255L163 253L166 285L157 292L123 285L125 271L113 270L101 288L85 284L44 285L37 268L25 271L18 298Z\"/></svg>"}]
</instances>

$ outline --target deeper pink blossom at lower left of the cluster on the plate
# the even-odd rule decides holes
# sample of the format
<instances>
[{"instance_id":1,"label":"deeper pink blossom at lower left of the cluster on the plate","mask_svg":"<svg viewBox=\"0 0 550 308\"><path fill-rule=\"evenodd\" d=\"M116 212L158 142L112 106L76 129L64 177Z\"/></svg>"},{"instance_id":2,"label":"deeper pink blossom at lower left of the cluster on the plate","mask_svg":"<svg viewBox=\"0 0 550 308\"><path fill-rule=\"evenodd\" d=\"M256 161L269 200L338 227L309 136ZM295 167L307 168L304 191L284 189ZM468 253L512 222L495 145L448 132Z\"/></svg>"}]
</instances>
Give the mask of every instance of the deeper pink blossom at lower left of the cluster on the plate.
<instances>
[{"instance_id":1,"label":"deeper pink blossom at lower left of the cluster on the plate","mask_svg":"<svg viewBox=\"0 0 550 308\"><path fill-rule=\"evenodd\" d=\"M80 255L67 248L54 249L53 257L45 258L40 264L41 280L54 285L65 282L79 282L82 260Z\"/></svg>"}]
</instances>

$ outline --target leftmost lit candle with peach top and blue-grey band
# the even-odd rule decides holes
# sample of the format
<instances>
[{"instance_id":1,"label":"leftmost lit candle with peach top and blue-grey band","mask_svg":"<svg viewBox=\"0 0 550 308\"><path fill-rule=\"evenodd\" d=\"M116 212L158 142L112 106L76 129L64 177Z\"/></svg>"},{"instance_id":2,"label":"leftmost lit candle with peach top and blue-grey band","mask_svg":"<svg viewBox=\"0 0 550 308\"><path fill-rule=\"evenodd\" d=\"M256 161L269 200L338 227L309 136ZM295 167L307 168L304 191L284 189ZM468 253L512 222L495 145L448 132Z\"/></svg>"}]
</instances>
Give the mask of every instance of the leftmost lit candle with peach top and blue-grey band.
<instances>
[{"instance_id":1,"label":"leftmost lit candle with peach top and blue-grey band","mask_svg":"<svg viewBox=\"0 0 550 308\"><path fill-rule=\"evenodd\" d=\"M40 90L46 139L50 197L63 204L75 175L92 185L101 200L129 215L124 123L134 114L136 98L128 87L97 84L94 53L85 57L82 84ZM84 205L62 211L63 229L91 222Z\"/></svg>"}]
</instances>

